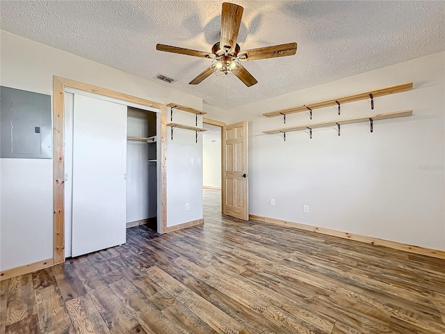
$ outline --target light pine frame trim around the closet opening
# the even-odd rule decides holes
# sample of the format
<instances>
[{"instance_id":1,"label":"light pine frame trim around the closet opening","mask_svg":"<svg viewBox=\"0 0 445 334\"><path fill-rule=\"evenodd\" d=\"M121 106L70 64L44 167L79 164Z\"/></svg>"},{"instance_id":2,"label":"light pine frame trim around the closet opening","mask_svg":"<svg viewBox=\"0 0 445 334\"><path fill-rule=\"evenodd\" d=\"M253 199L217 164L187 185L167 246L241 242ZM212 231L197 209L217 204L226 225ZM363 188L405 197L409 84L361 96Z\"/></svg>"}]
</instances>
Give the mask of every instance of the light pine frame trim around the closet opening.
<instances>
[{"instance_id":1,"label":"light pine frame trim around the closet opening","mask_svg":"<svg viewBox=\"0 0 445 334\"><path fill-rule=\"evenodd\" d=\"M113 97L126 102L142 104L159 109L161 114L161 233L167 228L166 148L167 127L165 104L145 100L133 95L85 84L81 81L53 76L53 150L54 150L54 258L53 264L65 262L65 87L84 90L89 93ZM51 260L51 259L50 259ZM46 263L45 263L46 264Z\"/></svg>"}]
</instances>

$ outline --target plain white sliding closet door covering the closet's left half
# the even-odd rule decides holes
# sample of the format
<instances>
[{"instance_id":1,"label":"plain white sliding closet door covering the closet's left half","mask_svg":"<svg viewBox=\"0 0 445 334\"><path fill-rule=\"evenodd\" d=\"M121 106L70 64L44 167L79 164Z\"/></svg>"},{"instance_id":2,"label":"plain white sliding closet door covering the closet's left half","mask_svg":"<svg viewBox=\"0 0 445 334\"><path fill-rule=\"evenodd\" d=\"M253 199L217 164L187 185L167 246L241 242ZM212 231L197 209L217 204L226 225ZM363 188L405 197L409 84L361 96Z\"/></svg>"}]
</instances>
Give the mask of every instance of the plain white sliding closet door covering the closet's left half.
<instances>
[{"instance_id":1,"label":"plain white sliding closet door covering the closet's left half","mask_svg":"<svg viewBox=\"0 0 445 334\"><path fill-rule=\"evenodd\" d=\"M74 95L72 256L125 243L127 106Z\"/></svg>"}]
</instances>

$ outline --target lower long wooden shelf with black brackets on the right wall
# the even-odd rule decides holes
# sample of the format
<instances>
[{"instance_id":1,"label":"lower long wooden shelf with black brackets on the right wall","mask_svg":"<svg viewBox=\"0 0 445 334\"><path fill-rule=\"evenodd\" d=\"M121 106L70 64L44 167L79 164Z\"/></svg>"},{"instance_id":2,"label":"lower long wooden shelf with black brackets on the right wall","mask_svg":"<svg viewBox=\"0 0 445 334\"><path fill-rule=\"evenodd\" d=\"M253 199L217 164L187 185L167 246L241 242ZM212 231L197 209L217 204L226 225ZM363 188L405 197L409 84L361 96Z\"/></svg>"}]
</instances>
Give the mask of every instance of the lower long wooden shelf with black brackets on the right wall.
<instances>
[{"instance_id":1,"label":"lower long wooden shelf with black brackets on the right wall","mask_svg":"<svg viewBox=\"0 0 445 334\"><path fill-rule=\"evenodd\" d=\"M361 116L355 118L346 118L343 120L330 120L327 122L318 122L306 125L296 125L294 127L282 127L280 129L272 129L264 131L264 134L283 134L284 141L286 141L286 132L293 131L304 131L309 130L310 138L312 138L312 129L316 129L319 127L335 127L337 126L337 132L340 136L340 125L359 123L359 122L370 122L371 123L371 132L373 132L373 121L374 120L387 120L389 118L399 118L399 117L407 117L412 116L412 110L403 110L403 111L394 111L392 113L377 113L375 115L370 116Z\"/></svg>"}]
</instances>

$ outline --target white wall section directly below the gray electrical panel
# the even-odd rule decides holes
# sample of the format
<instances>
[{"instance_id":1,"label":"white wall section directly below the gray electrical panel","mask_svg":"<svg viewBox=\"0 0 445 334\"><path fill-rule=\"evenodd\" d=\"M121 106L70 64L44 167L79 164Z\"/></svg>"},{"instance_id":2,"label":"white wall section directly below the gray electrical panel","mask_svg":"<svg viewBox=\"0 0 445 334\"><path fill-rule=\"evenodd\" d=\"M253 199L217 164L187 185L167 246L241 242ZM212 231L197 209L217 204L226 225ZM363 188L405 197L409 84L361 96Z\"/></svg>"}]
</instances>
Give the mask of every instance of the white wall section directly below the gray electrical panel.
<instances>
[{"instance_id":1,"label":"white wall section directly below the gray electrical panel","mask_svg":"<svg viewBox=\"0 0 445 334\"><path fill-rule=\"evenodd\" d=\"M51 161L0 159L1 270L53 257Z\"/></svg>"}]
</instances>

